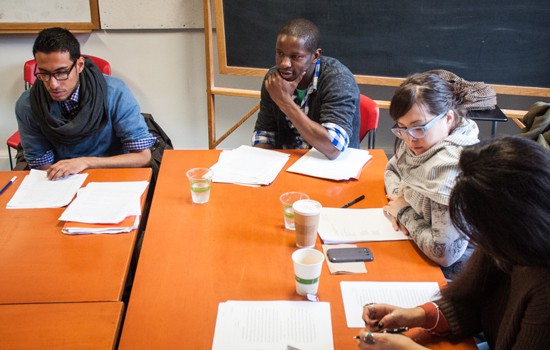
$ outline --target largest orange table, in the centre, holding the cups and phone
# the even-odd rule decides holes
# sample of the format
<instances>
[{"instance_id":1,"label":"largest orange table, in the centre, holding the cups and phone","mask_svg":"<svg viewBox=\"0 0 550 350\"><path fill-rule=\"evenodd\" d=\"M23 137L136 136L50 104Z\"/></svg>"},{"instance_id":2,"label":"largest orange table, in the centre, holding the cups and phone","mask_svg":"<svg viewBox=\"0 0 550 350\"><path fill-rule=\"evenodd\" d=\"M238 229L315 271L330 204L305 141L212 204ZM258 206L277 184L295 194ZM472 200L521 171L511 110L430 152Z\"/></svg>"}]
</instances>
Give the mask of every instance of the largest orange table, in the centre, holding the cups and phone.
<instances>
[{"instance_id":1,"label":"largest orange table, in the centre, holding the cups and phone","mask_svg":"<svg viewBox=\"0 0 550 350\"><path fill-rule=\"evenodd\" d=\"M210 201L192 204L185 172L210 167L220 151L166 151L136 279L123 326L120 349L209 349L218 303L227 300L303 300L295 293L291 254L294 232L284 229L279 196L303 191L325 207L340 207L365 194L354 208L386 203L381 150L364 167L360 180L328 181L286 172L261 188L212 184ZM375 261L368 274L330 275L323 266L319 297L331 304L335 349L355 348L357 329L346 326L340 281L437 281L441 270L427 262L411 242L368 244ZM321 249L318 240L317 249ZM459 344L456 348L469 348ZM444 343L442 347L451 345Z\"/></svg>"}]
</instances>

